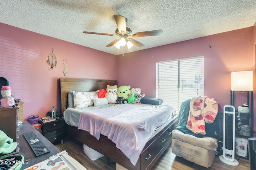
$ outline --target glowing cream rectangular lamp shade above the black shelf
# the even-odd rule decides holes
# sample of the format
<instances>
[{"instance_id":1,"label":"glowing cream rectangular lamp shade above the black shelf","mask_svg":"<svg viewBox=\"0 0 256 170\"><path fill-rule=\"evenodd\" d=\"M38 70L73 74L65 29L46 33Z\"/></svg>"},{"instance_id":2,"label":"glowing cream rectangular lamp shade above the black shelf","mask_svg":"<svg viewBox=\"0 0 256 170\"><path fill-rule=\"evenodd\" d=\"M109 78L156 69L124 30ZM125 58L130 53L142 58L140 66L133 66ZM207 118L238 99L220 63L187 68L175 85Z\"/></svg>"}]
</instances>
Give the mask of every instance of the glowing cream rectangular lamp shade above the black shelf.
<instances>
[{"instance_id":1,"label":"glowing cream rectangular lamp shade above the black shelf","mask_svg":"<svg viewBox=\"0 0 256 170\"><path fill-rule=\"evenodd\" d=\"M231 72L232 91L253 91L253 71L233 71Z\"/></svg>"}]
</instances>

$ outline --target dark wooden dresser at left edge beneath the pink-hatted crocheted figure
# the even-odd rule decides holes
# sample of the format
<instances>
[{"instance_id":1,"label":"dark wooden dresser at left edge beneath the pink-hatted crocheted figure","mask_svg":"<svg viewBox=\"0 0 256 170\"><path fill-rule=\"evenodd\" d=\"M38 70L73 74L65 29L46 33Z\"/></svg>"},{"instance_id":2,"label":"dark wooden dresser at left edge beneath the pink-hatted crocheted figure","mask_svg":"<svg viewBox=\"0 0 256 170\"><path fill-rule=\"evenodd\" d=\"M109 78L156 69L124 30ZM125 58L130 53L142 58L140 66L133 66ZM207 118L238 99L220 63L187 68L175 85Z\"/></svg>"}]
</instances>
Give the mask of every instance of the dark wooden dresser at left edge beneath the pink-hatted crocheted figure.
<instances>
[{"instance_id":1,"label":"dark wooden dresser at left edge beneath the pink-hatted crocheted figure","mask_svg":"<svg viewBox=\"0 0 256 170\"><path fill-rule=\"evenodd\" d=\"M18 107L0 108L0 130L16 142Z\"/></svg>"}]
</instances>

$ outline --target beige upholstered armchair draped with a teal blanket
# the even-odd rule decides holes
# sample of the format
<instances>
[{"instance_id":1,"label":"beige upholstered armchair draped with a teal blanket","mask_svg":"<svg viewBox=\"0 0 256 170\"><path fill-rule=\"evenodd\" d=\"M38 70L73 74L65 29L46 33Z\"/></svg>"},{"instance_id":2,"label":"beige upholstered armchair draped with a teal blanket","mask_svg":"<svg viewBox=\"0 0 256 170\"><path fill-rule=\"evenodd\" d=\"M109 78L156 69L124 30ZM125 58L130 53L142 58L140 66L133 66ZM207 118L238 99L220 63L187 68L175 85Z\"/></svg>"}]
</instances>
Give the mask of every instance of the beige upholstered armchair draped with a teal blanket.
<instances>
[{"instance_id":1,"label":"beige upholstered armchair draped with a teal blanket","mask_svg":"<svg viewBox=\"0 0 256 170\"><path fill-rule=\"evenodd\" d=\"M212 166L220 138L220 111L213 123L205 123L206 135L194 134L186 127L190 111L190 101L182 103L179 112L179 123L172 131L172 153L206 168Z\"/></svg>"}]
</instances>

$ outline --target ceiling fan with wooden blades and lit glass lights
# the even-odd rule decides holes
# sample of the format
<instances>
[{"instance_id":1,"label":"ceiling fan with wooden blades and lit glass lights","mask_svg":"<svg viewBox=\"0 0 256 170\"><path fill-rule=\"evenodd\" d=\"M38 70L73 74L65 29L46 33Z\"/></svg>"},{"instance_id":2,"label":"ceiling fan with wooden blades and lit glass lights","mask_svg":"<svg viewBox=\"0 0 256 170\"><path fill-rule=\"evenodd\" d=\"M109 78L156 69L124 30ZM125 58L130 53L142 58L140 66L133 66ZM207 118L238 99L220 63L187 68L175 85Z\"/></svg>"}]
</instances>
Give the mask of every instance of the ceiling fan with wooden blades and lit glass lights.
<instances>
[{"instance_id":1,"label":"ceiling fan with wooden blades and lit glass lights","mask_svg":"<svg viewBox=\"0 0 256 170\"><path fill-rule=\"evenodd\" d=\"M120 49L120 47L124 47L125 45L127 45L128 49L130 49L133 45L136 45L137 47L144 47L144 44L140 43L139 41L136 41L133 38L162 35L164 33L162 29L132 33L132 29L126 27L127 19L125 17L120 15L114 15L114 18L117 25L116 35L108 33L94 33L88 31L84 31L83 33L120 37L106 45L106 47L111 47L114 45L118 49Z\"/></svg>"}]
</instances>

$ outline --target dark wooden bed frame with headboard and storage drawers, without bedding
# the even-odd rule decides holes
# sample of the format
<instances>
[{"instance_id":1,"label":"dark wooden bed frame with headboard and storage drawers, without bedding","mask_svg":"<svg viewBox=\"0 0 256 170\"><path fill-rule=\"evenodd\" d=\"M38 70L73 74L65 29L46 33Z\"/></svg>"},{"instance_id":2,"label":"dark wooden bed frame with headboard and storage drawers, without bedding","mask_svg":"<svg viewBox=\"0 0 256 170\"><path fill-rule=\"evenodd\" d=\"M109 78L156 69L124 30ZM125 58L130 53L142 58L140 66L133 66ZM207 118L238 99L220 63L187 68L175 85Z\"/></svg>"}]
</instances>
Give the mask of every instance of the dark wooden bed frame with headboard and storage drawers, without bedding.
<instances>
[{"instance_id":1,"label":"dark wooden bed frame with headboard and storage drawers, without bedding","mask_svg":"<svg viewBox=\"0 0 256 170\"><path fill-rule=\"evenodd\" d=\"M60 78L60 96L62 113L68 111L68 93L70 90L77 92L92 92L99 89L106 89L107 85L117 85L116 80L96 80L96 79L77 79L77 78ZM132 104L131 104L132 105ZM133 107L139 105L134 104ZM116 107L116 106L115 106ZM118 107L125 107L123 106ZM144 106L143 106L144 107ZM68 109L67 109L68 108ZM75 117L75 116L71 116ZM65 122L69 122L68 118ZM151 169L158 158L166 150L172 141L172 130L178 123L178 115L173 115L167 122L158 127L149 139L145 141L144 147L139 154L137 162L131 162L120 149L116 147L116 143L108 139L107 136L100 134L98 139L91 135L88 131L79 129L77 125L66 123L66 135L72 137L88 147L107 156L110 160L116 162L118 166L122 166L128 170L144 170Z\"/></svg>"}]
</instances>

